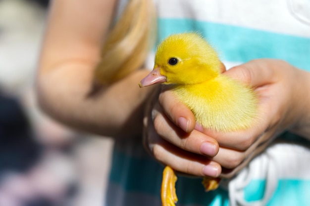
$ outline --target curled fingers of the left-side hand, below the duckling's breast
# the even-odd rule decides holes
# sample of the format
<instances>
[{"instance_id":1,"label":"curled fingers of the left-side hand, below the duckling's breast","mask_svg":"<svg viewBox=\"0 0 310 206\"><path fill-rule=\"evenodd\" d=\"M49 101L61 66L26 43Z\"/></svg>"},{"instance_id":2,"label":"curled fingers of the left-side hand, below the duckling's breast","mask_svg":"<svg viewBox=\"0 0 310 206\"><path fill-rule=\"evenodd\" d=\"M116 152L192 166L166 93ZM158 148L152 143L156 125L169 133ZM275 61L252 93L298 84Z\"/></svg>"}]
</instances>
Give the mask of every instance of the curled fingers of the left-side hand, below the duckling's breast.
<instances>
[{"instance_id":1,"label":"curled fingers of the left-side hand, below the duckling's breast","mask_svg":"<svg viewBox=\"0 0 310 206\"><path fill-rule=\"evenodd\" d=\"M186 118L188 124L180 117ZM217 154L217 141L194 130L193 113L176 101L171 91L158 90L153 94L146 108L144 126L144 144L159 162L179 172L196 176L217 177L221 173L221 166L208 158ZM204 149L201 151L200 147ZM205 173L204 166L207 166Z\"/></svg>"}]
</instances>

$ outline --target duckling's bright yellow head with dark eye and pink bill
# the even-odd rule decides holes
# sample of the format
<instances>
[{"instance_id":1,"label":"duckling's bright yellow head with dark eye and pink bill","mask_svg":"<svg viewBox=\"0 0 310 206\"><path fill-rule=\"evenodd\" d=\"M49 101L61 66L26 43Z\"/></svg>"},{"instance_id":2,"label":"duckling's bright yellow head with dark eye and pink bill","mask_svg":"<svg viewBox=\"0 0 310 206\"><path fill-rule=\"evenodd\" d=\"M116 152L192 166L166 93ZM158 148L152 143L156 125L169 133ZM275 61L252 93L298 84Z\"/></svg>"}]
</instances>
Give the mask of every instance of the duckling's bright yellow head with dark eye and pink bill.
<instances>
[{"instance_id":1,"label":"duckling's bright yellow head with dark eye and pink bill","mask_svg":"<svg viewBox=\"0 0 310 206\"><path fill-rule=\"evenodd\" d=\"M221 67L217 53L200 35L171 35L157 47L154 69L139 85L206 82L217 77Z\"/></svg>"}]
</instances>

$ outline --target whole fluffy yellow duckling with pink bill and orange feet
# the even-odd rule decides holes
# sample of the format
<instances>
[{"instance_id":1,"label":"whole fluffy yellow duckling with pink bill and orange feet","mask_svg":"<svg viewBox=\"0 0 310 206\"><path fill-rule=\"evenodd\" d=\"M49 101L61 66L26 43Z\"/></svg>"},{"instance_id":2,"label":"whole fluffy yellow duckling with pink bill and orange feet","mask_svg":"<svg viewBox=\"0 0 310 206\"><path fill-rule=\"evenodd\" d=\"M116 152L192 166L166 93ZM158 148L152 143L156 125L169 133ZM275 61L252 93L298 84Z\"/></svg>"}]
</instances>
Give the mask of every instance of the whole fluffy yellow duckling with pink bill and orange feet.
<instances>
[{"instance_id":1,"label":"whole fluffy yellow duckling with pink bill and orange feet","mask_svg":"<svg viewBox=\"0 0 310 206\"><path fill-rule=\"evenodd\" d=\"M157 47L154 69L139 85L170 84L204 128L223 132L246 129L254 124L257 114L256 94L249 86L222 75L223 67L216 51L200 35L171 35ZM167 166L161 188L163 206L174 206L177 201L175 189L171 189L175 181L174 171ZM212 190L218 182L219 178L205 178L203 184Z\"/></svg>"}]
</instances>

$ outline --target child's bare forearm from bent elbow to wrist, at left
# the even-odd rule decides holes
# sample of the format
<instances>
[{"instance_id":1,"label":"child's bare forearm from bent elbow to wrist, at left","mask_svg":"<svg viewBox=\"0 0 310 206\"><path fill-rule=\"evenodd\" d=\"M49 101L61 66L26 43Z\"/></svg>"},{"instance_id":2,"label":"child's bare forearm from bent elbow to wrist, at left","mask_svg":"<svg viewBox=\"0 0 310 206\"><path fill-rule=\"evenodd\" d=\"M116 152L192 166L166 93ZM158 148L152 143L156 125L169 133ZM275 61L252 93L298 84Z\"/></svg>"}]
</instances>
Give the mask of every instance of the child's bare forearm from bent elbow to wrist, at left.
<instances>
[{"instance_id":1,"label":"child's bare forearm from bent elbow to wrist, at left","mask_svg":"<svg viewBox=\"0 0 310 206\"><path fill-rule=\"evenodd\" d=\"M154 87L141 89L144 70L88 96L92 85L90 65L59 65L38 77L38 99L53 118L74 128L106 136L142 132L144 102Z\"/></svg>"}]
</instances>

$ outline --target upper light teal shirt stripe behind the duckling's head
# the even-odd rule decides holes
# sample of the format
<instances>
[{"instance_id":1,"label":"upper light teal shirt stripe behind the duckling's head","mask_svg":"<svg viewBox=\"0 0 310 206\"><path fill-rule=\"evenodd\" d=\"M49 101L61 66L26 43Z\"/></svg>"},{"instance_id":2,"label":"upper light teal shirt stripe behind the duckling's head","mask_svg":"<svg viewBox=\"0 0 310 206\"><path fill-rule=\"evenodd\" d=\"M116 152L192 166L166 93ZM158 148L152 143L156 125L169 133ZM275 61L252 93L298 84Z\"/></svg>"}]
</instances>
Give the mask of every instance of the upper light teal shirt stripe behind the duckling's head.
<instances>
[{"instance_id":1,"label":"upper light teal shirt stripe behind the duckling's head","mask_svg":"<svg viewBox=\"0 0 310 206\"><path fill-rule=\"evenodd\" d=\"M275 58L310 71L309 38L193 19L160 18L158 31L158 41L174 33L199 32L219 51L224 61Z\"/></svg>"}]
</instances>

